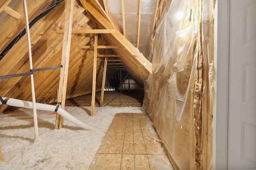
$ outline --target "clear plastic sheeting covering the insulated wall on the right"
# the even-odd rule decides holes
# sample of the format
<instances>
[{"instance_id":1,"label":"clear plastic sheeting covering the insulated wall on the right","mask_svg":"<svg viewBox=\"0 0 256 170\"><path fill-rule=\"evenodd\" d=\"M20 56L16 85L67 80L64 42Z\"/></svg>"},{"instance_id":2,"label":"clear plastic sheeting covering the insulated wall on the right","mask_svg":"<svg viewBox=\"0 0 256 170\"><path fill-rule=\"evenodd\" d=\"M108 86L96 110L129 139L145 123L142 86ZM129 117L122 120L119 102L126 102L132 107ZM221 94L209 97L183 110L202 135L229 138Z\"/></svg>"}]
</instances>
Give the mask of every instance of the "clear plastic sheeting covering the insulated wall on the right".
<instances>
[{"instance_id":1,"label":"clear plastic sheeting covering the insulated wall on the right","mask_svg":"<svg viewBox=\"0 0 256 170\"><path fill-rule=\"evenodd\" d=\"M172 0L152 41L144 107L174 169L212 169L213 9Z\"/></svg>"}]
</instances>

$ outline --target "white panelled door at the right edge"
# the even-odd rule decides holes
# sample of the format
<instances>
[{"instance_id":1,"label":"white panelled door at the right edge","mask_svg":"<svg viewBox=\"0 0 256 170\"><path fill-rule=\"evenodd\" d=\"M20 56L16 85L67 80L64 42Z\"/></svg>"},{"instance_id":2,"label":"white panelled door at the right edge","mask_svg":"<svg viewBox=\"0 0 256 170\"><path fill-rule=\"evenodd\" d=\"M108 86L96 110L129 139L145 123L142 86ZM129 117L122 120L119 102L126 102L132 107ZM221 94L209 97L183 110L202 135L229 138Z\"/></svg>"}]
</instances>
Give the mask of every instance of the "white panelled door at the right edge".
<instances>
[{"instance_id":1,"label":"white panelled door at the right edge","mask_svg":"<svg viewBox=\"0 0 256 170\"><path fill-rule=\"evenodd\" d=\"M230 0L228 169L256 169L256 0Z\"/></svg>"}]
</instances>

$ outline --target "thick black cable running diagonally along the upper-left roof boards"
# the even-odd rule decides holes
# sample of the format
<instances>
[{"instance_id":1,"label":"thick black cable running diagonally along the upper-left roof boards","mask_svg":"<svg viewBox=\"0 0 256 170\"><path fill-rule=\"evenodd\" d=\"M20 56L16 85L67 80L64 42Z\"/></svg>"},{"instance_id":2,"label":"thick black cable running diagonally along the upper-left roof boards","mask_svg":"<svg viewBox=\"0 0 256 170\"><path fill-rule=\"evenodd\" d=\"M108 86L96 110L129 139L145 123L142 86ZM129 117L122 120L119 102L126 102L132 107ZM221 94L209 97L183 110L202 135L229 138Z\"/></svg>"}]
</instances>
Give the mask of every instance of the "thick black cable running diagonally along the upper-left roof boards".
<instances>
[{"instance_id":1,"label":"thick black cable running diagonally along the upper-left roof boards","mask_svg":"<svg viewBox=\"0 0 256 170\"><path fill-rule=\"evenodd\" d=\"M51 12L52 10L54 10L57 6L59 6L64 0L55 0L55 4L54 6L51 6L50 8L48 8L47 10L45 10L44 12L42 12L40 15L36 16L36 18L34 18L34 20L32 20L29 23L29 28L32 27L38 20L40 20L41 18L43 18L44 16L46 16L49 12ZM21 37L23 37L23 35L25 35L26 33L26 29L24 28L19 35L17 35L12 42L10 42L7 47L2 51L2 53L0 54L0 60L6 55L6 53L8 53L8 51L21 39Z\"/></svg>"}]
</instances>

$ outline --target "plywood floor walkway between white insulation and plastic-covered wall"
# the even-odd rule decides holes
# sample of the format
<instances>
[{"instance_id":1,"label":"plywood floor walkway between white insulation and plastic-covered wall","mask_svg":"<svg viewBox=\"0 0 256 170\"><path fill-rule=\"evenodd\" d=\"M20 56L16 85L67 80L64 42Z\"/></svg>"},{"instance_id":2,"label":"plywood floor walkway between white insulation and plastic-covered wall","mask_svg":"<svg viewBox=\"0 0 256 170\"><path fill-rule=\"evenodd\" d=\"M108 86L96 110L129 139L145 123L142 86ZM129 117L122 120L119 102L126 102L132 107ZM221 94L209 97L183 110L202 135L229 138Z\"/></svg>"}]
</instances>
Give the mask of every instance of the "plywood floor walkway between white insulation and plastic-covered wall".
<instances>
[{"instance_id":1,"label":"plywood floor walkway between white insulation and plastic-covered wall","mask_svg":"<svg viewBox=\"0 0 256 170\"><path fill-rule=\"evenodd\" d=\"M115 115L89 170L156 170L150 157L162 146L146 135L145 113Z\"/></svg>"}]
</instances>

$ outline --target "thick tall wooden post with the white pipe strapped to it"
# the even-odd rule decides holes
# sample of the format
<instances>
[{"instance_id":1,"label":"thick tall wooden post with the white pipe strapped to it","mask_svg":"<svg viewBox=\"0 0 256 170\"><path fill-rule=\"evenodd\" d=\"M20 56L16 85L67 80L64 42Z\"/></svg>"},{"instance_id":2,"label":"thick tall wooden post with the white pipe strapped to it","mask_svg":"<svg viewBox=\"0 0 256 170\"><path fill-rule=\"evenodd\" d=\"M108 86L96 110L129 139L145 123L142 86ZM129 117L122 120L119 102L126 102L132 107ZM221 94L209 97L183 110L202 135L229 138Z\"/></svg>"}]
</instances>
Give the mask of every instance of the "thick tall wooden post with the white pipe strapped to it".
<instances>
[{"instance_id":1,"label":"thick tall wooden post with the white pipe strapped to it","mask_svg":"<svg viewBox=\"0 0 256 170\"><path fill-rule=\"evenodd\" d=\"M65 108L66 100L66 90L68 82L68 65L69 65L69 55L70 55L70 43L71 43L71 30L72 30L72 19L73 19L73 8L74 0L66 0L66 16L65 16L65 26L63 35L63 45L62 45L62 68L60 69L60 84L58 92L58 102L61 102L62 109ZM61 129L63 126L63 117L56 114L55 129Z\"/></svg>"}]
</instances>

